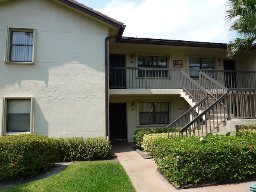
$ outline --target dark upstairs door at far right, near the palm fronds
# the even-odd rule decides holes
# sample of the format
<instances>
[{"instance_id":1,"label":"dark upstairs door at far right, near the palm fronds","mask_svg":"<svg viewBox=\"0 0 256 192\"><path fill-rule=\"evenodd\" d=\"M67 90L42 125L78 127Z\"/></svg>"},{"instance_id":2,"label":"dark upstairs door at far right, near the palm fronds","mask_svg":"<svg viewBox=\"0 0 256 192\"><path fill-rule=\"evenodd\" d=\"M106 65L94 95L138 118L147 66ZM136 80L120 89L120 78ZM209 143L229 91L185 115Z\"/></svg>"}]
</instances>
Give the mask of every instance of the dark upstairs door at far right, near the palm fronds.
<instances>
[{"instance_id":1,"label":"dark upstairs door at far right, near the palm fronds","mask_svg":"<svg viewBox=\"0 0 256 192\"><path fill-rule=\"evenodd\" d=\"M231 72L230 70L236 70L235 60L223 60L223 68L224 70L228 70L228 72L224 72L224 80L226 88L236 88L236 73Z\"/></svg>"}]
</instances>

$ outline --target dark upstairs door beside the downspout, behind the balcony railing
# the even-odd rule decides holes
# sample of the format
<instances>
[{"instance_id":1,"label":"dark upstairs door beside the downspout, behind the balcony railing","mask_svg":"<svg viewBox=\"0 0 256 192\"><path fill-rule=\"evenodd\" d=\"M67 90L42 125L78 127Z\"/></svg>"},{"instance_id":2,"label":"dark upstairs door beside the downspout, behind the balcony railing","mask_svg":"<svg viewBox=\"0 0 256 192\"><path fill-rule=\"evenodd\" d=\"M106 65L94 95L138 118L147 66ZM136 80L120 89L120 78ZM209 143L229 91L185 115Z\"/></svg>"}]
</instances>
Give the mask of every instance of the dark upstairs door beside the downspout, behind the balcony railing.
<instances>
[{"instance_id":1,"label":"dark upstairs door beside the downspout, behind the balcony railing","mask_svg":"<svg viewBox=\"0 0 256 192\"><path fill-rule=\"evenodd\" d=\"M109 88L126 88L126 55L109 55Z\"/></svg>"}]
</instances>

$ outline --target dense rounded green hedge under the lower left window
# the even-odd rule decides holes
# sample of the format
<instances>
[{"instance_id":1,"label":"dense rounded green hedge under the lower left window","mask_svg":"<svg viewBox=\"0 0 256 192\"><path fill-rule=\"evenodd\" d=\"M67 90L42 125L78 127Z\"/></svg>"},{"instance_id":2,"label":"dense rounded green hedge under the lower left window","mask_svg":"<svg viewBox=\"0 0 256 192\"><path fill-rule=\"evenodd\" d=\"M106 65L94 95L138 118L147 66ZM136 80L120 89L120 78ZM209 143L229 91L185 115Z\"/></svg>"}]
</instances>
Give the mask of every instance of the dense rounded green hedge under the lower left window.
<instances>
[{"instance_id":1,"label":"dense rounded green hedge under the lower left window","mask_svg":"<svg viewBox=\"0 0 256 192\"><path fill-rule=\"evenodd\" d=\"M0 180L36 176L60 160L54 138L36 134L0 137Z\"/></svg>"}]
</instances>

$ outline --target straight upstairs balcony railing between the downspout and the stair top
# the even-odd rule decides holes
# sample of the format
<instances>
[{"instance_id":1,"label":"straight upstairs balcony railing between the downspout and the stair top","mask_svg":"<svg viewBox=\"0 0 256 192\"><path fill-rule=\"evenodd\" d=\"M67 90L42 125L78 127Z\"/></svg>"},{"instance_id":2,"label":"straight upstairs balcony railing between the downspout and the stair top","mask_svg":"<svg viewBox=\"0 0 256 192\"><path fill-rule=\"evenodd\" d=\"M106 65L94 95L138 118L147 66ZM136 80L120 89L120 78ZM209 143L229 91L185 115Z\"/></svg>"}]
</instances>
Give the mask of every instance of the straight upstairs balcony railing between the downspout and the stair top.
<instances>
[{"instance_id":1,"label":"straight upstairs balcony railing between the downspout and the stair top","mask_svg":"<svg viewBox=\"0 0 256 192\"><path fill-rule=\"evenodd\" d=\"M110 67L110 89L180 89L181 70Z\"/></svg>"}]
</instances>

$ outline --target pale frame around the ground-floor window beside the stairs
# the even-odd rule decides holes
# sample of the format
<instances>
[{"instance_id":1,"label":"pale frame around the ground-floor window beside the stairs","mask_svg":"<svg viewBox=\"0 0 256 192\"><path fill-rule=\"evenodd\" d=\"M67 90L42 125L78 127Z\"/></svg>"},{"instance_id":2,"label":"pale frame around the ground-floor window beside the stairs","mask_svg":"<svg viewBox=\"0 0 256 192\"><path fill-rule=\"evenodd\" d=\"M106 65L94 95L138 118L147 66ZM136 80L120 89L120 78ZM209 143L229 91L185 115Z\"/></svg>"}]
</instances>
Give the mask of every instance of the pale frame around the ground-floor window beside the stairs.
<instances>
[{"instance_id":1,"label":"pale frame around the ground-floor window beside the stairs","mask_svg":"<svg viewBox=\"0 0 256 192\"><path fill-rule=\"evenodd\" d=\"M168 124L143 124L140 125L140 103L168 103L169 104L169 123ZM171 101L166 101L166 100L152 100L152 101L148 101L148 100L141 100L141 101L137 101L136 102L136 106L137 106L137 127L160 127L160 126L167 126L170 124L170 122L172 122L172 102Z\"/></svg>"}]
</instances>

